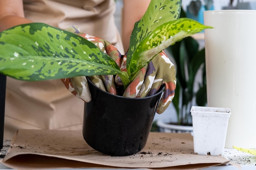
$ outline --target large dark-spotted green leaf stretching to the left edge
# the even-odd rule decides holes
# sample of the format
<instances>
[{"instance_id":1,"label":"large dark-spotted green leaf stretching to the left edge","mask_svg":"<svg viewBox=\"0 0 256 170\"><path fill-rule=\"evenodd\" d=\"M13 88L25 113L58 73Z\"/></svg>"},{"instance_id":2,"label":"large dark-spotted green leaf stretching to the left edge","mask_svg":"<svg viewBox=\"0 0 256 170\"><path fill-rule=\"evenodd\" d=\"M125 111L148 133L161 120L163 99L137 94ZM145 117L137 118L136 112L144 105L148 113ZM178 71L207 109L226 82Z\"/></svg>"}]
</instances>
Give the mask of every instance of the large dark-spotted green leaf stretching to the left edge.
<instances>
[{"instance_id":1,"label":"large dark-spotted green leaf stretching to the left edge","mask_svg":"<svg viewBox=\"0 0 256 170\"><path fill-rule=\"evenodd\" d=\"M79 35L31 23L0 33L0 73L39 81L121 71L110 56Z\"/></svg>"}]
</instances>

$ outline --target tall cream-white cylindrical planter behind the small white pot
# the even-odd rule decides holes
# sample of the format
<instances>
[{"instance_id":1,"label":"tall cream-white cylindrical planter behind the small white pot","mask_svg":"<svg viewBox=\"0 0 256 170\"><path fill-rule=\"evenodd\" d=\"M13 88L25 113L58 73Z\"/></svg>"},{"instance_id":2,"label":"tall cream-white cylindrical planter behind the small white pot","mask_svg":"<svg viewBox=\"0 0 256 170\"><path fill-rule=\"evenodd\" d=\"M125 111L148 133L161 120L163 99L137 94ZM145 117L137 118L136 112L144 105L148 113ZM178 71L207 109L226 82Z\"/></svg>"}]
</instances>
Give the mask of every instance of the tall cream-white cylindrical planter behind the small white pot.
<instances>
[{"instance_id":1,"label":"tall cream-white cylindrical planter behind the small white pot","mask_svg":"<svg viewBox=\"0 0 256 170\"><path fill-rule=\"evenodd\" d=\"M226 148L256 147L256 10L204 11L207 105L230 108Z\"/></svg>"}]
</instances>

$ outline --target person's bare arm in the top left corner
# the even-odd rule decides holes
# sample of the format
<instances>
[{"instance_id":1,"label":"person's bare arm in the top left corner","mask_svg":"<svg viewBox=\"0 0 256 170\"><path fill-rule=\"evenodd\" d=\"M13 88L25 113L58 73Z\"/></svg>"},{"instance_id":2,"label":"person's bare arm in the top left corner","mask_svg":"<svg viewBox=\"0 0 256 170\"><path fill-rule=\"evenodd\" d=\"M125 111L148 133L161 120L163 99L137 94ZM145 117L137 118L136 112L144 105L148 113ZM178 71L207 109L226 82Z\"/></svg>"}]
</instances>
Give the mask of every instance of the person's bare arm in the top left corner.
<instances>
[{"instance_id":1,"label":"person's bare arm in the top left corner","mask_svg":"<svg viewBox=\"0 0 256 170\"><path fill-rule=\"evenodd\" d=\"M24 18L22 0L0 0L0 31L30 22Z\"/></svg>"}]
</instances>

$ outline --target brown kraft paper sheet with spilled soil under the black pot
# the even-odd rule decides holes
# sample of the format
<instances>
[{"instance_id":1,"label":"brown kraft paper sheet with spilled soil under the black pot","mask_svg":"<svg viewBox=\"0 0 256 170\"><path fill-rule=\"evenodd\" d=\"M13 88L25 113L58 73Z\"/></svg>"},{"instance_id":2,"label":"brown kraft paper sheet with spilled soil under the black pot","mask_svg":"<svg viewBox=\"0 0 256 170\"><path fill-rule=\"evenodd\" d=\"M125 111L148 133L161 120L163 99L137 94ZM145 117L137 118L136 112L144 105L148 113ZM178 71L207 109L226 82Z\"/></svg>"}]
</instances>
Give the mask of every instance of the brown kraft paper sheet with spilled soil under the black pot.
<instances>
[{"instance_id":1,"label":"brown kraft paper sheet with spilled soil under the black pot","mask_svg":"<svg viewBox=\"0 0 256 170\"><path fill-rule=\"evenodd\" d=\"M222 156L197 155L189 133L150 132L143 150L111 157L92 149L81 130L18 130L1 160L10 168L143 168L198 170L229 161Z\"/></svg>"}]
</instances>

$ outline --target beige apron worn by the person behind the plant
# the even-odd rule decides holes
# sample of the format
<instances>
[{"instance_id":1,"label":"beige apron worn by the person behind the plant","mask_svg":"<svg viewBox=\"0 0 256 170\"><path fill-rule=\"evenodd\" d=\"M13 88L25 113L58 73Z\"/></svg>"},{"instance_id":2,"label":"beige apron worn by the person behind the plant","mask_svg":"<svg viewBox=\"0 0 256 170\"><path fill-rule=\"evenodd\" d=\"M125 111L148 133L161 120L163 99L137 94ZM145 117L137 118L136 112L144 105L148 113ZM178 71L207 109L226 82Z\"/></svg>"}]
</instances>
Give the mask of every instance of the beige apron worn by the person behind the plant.
<instances>
[{"instance_id":1,"label":"beige apron worn by the person behind the plant","mask_svg":"<svg viewBox=\"0 0 256 170\"><path fill-rule=\"evenodd\" d=\"M25 17L104 38L124 53L115 26L113 0L23 0ZM83 101L72 95L61 80L18 81L7 77L4 139L17 129L78 130L83 123Z\"/></svg>"}]
</instances>

